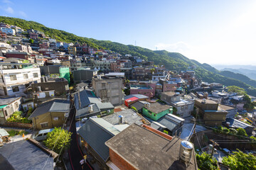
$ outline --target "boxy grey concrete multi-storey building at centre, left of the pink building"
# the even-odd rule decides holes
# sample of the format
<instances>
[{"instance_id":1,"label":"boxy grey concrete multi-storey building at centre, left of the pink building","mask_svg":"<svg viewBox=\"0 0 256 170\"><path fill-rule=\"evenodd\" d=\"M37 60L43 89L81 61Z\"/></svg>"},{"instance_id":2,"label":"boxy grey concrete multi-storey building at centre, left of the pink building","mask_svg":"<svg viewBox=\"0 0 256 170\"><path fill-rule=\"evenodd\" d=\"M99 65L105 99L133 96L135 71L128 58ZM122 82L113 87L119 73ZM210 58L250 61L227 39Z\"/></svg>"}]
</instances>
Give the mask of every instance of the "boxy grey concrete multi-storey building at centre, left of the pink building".
<instances>
[{"instance_id":1,"label":"boxy grey concrete multi-storey building at centre, left of the pink building","mask_svg":"<svg viewBox=\"0 0 256 170\"><path fill-rule=\"evenodd\" d=\"M110 102L114 106L124 103L123 79L98 76L92 78L92 87L102 102Z\"/></svg>"}]
</instances>

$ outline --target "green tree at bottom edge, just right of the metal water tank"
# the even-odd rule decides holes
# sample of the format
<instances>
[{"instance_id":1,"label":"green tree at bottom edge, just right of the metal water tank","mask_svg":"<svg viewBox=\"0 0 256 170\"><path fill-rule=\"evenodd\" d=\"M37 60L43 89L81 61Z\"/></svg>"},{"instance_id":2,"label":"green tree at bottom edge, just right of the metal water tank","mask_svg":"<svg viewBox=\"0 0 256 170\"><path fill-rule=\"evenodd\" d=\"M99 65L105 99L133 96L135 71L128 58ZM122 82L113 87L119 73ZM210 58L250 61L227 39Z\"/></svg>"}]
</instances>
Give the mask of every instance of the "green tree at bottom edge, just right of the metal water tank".
<instances>
[{"instance_id":1,"label":"green tree at bottom edge, just right of the metal water tank","mask_svg":"<svg viewBox=\"0 0 256 170\"><path fill-rule=\"evenodd\" d=\"M202 170L218 170L218 162L210 154L203 152L203 154L196 154L196 162L198 164L198 168Z\"/></svg>"}]
</instances>

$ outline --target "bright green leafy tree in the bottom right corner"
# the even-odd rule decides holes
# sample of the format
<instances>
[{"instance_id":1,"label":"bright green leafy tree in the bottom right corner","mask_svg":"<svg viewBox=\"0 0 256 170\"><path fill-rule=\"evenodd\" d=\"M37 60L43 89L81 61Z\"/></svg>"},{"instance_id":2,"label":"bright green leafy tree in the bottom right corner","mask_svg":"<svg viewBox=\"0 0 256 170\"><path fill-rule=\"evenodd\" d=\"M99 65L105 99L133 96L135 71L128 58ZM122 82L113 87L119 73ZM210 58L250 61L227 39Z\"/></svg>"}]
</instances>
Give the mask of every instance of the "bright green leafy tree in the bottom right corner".
<instances>
[{"instance_id":1,"label":"bright green leafy tree in the bottom right corner","mask_svg":"<svg viewBox=\"0 0 256 170\"><path fill-rule=\"evenodd\" d=\"M223 157L223 164L230 166L230 169L252 170L256 169L256 157L253 154L245 154L238 149L238 152Z\"/></svg>"}]
</instances>

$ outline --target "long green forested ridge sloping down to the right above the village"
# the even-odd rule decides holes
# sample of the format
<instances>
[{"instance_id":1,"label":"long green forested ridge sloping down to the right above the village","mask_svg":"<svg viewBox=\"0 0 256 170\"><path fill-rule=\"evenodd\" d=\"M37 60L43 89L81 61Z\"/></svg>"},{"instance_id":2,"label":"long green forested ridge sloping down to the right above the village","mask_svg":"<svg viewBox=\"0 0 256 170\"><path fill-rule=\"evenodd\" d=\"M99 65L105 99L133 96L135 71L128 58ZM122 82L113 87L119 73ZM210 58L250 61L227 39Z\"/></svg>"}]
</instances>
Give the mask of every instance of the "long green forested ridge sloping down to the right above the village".
<instances>
[{"instance_id":1,"label":"long green forested ridge sloping down to the right above the village","mask_svg":"<svg viewBox=\"0 0 256 170\"><path fill-rule=\"evenodd\" d=\"M93 38L84 38L72 33L65 32L63 30L57 30L53 28L47 28L41 23L36 23L34 21L25 21L19 18L11 18L0 16L0 22L9 23L11 25L19 26L23 29L33 28L35 30L43 31L50 38L55 38L58 41L64 42L80 42L87 43L91 47L104 48L107 50L112 50L114 52L119 52L121 55L134 55L142 57L144 60L154 61L155 64L164 65L167 69L176 69L178 71L186 71L190 66L196 66L195 72L198 78L203 81L208 81L209 83L218 82L224 84L225 86L240 86L247 91L248 94L256 96L256 89L254 81L247 80L246 77L241 78L236 77L232 73L222 73L211 67L209 64L201 64L196 60L189 60L187 57L181 55L178 52L167 52L166 50L149 50L147 48L134 46L134 45L123 45L118 42L111 42L107 40L95 40ZM252 85L250 85L250 84Z\"/></svg>"}]
</instances>

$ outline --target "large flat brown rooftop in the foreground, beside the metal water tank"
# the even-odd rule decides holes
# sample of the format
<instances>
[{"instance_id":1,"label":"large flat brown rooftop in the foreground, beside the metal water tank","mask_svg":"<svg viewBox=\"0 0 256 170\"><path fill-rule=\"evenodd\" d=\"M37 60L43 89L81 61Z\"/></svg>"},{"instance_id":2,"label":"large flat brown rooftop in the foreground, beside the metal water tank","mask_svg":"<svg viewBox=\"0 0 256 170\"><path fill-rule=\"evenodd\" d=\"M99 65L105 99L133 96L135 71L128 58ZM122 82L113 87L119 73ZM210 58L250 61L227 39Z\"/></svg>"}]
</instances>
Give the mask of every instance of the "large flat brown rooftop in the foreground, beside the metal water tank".
<instances>
[{"instance_id":1,"label":"large flat brown rooftop in the foreground, beside the metal water tank","mask_svg":"<svg viewBox=\"0 0 256 170\"><path fill-rule=\"evenodd\" d=\"M197 169L194 154L188 167L178 160L181 141L178 137L167 140L155 132L132 124L105 144L135 169Z\"/></svg>"}]
</instances>

